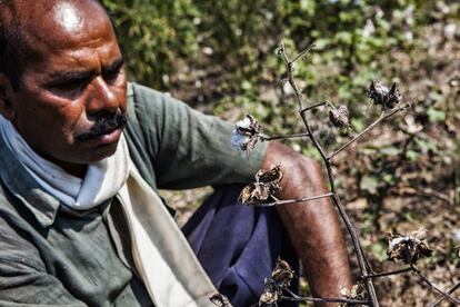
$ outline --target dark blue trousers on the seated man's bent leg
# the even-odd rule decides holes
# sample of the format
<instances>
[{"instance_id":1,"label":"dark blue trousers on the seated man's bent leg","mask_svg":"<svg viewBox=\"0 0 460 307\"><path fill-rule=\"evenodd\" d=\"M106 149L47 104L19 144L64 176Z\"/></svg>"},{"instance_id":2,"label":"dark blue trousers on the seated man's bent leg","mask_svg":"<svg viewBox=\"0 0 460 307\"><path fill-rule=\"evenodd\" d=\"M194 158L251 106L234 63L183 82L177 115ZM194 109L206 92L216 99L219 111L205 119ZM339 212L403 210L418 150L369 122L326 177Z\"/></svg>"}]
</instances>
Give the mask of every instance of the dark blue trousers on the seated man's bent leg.
<instances>
[{"instance_id":1,"label":"dark blue trousers on the seated man's bent leg","mask_svg":"<svg viewBox=\"0 0 460 307\"><path fill-rule=\"evenodd\" d=\"M183 227L193 251L219 291L234 307L256 304L278 257L299 276L299 260L274 208L238 202L243 186L219 187ZM298 293L298 279L291 289ZM298 306L283 301L278 306Z\"/></svg>"}]
</instances>

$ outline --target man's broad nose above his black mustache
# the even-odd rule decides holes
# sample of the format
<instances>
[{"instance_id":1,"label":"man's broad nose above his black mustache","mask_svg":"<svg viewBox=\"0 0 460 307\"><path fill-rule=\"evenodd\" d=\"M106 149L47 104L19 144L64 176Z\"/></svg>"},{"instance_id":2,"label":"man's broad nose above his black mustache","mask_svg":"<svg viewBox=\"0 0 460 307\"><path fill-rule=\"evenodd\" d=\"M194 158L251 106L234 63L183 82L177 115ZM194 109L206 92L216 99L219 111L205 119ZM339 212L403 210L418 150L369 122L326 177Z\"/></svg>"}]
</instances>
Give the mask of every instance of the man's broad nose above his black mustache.
<instances>
[{"instance_id":1,"label":"man's broad nose above his black mustache","mask_svg":"<svg viewBox=\"0 0 460 307\"><path fill-rule=\"evenodd\" d=\"M121 98L117 95L117 90L108 86L101 76L92 79L89 88L88 116L112 113L121 107Z\"/></svg>"}]
</instances>

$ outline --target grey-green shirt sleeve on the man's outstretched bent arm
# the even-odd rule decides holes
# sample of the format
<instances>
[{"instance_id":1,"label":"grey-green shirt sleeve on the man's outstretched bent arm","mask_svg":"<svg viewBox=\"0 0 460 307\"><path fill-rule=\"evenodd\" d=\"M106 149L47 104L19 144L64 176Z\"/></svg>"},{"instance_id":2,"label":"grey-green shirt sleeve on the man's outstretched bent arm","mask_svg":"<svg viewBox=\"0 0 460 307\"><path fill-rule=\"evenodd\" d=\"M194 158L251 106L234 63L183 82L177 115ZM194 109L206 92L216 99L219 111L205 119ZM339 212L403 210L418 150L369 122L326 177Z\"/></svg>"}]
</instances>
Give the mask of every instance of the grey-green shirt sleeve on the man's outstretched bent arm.
<instances>
[{"instance_id":1,"label":"grey-green shirt sleeve on the man's outstretched bent arm","mask_svg":"<svg viewBox=\"0 0 460 307\"><path fill-rule=\"evenodd\" d=\"M133 86L134 108L159 188L181 189L253 179L267 150L231 147L233 125L158 91Z\"/></svg>"}]
</instances>

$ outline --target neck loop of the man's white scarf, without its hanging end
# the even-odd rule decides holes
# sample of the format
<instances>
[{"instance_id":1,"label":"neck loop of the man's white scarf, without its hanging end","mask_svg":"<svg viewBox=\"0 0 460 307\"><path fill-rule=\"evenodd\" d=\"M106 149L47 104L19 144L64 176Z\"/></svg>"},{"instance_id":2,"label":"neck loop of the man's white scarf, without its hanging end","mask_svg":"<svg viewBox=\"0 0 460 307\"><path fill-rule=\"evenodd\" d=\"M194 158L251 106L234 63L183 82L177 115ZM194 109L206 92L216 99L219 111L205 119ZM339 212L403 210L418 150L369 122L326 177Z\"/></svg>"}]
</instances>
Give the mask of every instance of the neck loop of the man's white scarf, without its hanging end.
<instances>
[{"instance_id":1,"label":"neck loop of the man's white scarf, without its hanging end","mask_svg":"<svg viewBox=\"0 0 460 307\"><path fill-rule=\"evenodd\" d=\"M66 172L37 152L14 126L0 116L0 136L27 171L50 195L74 210L88 210L117 195L129 176L129 151L123 136L111 157L88 165L83 179Z\"/></svg>"}]
</instances>

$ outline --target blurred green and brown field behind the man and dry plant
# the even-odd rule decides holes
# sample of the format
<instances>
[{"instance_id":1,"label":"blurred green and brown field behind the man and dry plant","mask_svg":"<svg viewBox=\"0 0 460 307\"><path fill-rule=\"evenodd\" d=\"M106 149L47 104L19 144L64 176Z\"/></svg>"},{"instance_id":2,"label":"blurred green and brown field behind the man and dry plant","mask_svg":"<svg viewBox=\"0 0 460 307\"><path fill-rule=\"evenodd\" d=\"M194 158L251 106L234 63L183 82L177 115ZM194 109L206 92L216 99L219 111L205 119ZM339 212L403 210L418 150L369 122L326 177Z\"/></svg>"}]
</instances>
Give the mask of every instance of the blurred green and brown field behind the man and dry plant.
<instances>
[{"instance_id":1,"label":"blurred green and brown field behind the man and dry plant","mask_svg":"<svg viewBox=\"0 0 460 307\"><path fill-rule=\"evenodd\" d=\"M386 232L423 226L436 251L421 268L441 288L460 279L459 1L104 2L131 80L233 122L249 112L268 135L303 131L292 90L280 86L281 40L292 55L317 44L297 69L299 85L308 101L348 105L356 131L378 116L366 98L370 81L397 81L410 110L340 154L340 194L378 270L397 267L384 261ZM349 138L326 112L312 117L329 150ZM286 143L318 158L307 141ZM163 195L183 222L209 191ZM408 275L382 279L378 294L384 306L437 298Z\"/></svg>"}]
</instances>

